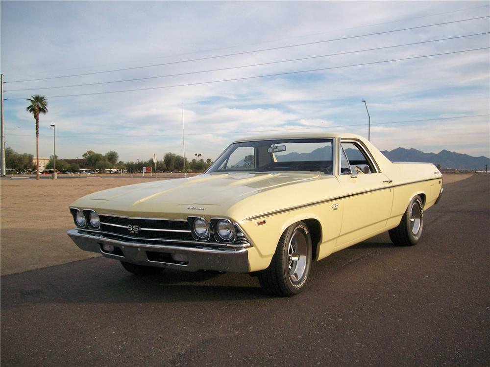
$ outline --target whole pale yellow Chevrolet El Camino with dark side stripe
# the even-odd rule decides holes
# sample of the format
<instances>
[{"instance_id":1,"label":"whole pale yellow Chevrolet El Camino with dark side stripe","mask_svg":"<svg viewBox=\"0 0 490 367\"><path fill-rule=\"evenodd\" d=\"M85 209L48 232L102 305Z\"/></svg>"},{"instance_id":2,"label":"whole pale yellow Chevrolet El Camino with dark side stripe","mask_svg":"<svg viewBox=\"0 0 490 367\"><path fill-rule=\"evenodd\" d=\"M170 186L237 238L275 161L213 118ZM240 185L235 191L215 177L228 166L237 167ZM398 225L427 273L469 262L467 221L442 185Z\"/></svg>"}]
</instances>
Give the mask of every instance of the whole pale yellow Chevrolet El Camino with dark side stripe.
<instances>
[{"instance_id":1,"label":"whole pale yellow Chevrolet El Camino with dark side stripe","mask_svg":"<svg viewBox=\"0 0 490 367\"><path fill-rule=\"evenodd\" d=\"M137 275L250 273L292 296L332 252L387 230L396 245L417 244L441 186L433 164L393 163L353 134L246 138L202 175L75 201L68 235Z\"/></svg>"}]
</instances>

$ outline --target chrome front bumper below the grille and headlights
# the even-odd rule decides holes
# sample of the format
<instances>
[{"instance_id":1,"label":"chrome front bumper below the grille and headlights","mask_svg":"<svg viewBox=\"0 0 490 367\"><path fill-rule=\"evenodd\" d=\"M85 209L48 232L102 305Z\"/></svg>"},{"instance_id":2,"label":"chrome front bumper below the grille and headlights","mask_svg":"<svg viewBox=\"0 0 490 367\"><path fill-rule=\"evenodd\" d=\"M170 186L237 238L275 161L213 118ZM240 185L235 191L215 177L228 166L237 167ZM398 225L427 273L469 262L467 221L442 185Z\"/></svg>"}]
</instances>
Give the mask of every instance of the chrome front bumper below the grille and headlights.
<instances>
[{"instance_id":1,"label":"chrome front bumper below the grille and headlights","mask_svg":"<svg viewBox=\"0 0 490 367\"><path fill-rule=\"evenodd\" d=\"M67 232L73 242L84 251L101 253L103 256L138 265L156 266L196 272L216 270L221 272L248 273L248 251L245 249L208 249L169 245L152 245L126 242L71 229ZM116 253L104 252L104 244L112 245ZM172 254L187 256L187 262L172 260ZM150 260L152 259L152 260Z\"/></svg>"}]
</instances>

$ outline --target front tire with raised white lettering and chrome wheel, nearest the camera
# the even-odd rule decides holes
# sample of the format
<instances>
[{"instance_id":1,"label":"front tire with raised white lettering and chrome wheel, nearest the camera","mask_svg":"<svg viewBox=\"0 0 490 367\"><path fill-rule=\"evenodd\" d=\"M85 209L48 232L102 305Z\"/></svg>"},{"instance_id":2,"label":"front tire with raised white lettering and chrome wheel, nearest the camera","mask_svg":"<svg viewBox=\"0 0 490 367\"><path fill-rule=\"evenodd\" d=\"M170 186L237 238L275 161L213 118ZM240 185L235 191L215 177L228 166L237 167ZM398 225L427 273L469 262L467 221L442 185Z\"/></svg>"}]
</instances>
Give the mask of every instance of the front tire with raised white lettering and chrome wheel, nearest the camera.
<instances>
[{"instance_id":1,"label":"front tire with raised white lettering and chrome wheel, nearest the camera","mask_svg":"<svg viewBox=\"0 0 490 367\"><path fill-rule=\"evenodd\" d=\"M282 234L269 268L258 273L260 285L274 296L294 296L303 290L311 262L309 229L304 222L297 222Z\"/></svg>"}]
</instances>

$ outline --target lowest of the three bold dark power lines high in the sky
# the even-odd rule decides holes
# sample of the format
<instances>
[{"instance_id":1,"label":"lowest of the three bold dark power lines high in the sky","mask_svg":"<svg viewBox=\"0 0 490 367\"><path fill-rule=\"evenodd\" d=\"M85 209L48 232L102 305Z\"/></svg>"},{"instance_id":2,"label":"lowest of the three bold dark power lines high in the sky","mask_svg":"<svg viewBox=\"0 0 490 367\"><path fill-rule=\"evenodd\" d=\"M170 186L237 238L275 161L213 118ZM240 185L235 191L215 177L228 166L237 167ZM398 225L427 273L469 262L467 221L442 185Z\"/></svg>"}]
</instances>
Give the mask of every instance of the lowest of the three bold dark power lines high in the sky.
<instances>
[{"instance_id":1,"label":"lowest of the three bold dark power lines high in the sky","mask_svg":"<svg viewBox=\"0 0 490 367\"><path fill-rule=\"evenodd\" d=\"M288 72L280 72L280 73L275 73L275 74L255 75L255 76L245 76L245 77L241 77L241 78L221 79L221 80L210 80L210 81L206 81L206 82L188 83L188 84L175 84L175 85L161 86L161 87L149 87L149 88L126 89L126 90L122 90L122 91L111 91L111 92L94 92L94 93L79 93L79 94L51 95L51 96L48 96L48 97L46 97L46 98L78 97L78 96L85 96L85 95L99 95L99 94L111 94L111 93L124 93L124 92L136 92L136 91L149 91L149 90L156 90L156 89L176 88L176 87L189 87L189 86L203 85L203 84L213 84L213 83L221 83L221 82L231 82L231 81L238 81L238 80L247 80L247 79L266 78L266 77L272 77L272 76L292 75L292 74L299 74L299 73L313 72L313 71L324 71L324 70L332 70L332 69L350 68L350 67L355 67L355 66L365 66L365 65L382 64L382 63L389 63L389 62L394 62L394 61L414 60L414 59L421 59L421 58L424 58L424 57L433 57L433 56L441 56L441 55L451 55L451 54L456 54L456 53L463 53L463 52L472 52L472 51L485 50L485 49L489 49L489 48L490 48L490 47L472 48L472 49L468 49L468 50L461 50L461 51L451 51L451 52L435 53L435 54L432 54L432 55L413 56L413 57L404 57L404 58L400 58L400 59L382 60L382 61L373 61L373 62L370 62L370 63L361 63L361 64L352 64L352 65L342 65L342 66L335 66L335 67L330 67L330 68L320 68L320 69L309 69L309 70L299 70L299 71L288 71ZM11 100L20 100L20 99L25 99L25 98L5 98L4 100L5 100L5 101L11 101Z\"/></svg>"}]
</instances>

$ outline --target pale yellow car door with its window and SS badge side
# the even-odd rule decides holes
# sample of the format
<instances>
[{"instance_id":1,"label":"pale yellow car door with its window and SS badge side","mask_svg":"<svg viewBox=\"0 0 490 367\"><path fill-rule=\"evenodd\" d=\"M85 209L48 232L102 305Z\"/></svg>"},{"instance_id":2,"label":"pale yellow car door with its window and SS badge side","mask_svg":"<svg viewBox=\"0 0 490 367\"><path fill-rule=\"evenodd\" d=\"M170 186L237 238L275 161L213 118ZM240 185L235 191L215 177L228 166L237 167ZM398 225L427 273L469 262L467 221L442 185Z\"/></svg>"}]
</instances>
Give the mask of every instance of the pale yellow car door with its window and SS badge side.
<instances>
[{"instance_id":1,"label":"pale yellow car door with its window and SS badge side","mask_svg":"<svg viewBox=\"0 0 490 367\"><path fill-rule=\"evenodd\" d=\"M338 156L343 220L336 247L341 247L386 227L393 190L390 179L379 171L360 141L341 139Z\"/></svg>"}]
</instances>

